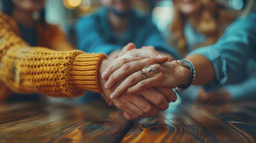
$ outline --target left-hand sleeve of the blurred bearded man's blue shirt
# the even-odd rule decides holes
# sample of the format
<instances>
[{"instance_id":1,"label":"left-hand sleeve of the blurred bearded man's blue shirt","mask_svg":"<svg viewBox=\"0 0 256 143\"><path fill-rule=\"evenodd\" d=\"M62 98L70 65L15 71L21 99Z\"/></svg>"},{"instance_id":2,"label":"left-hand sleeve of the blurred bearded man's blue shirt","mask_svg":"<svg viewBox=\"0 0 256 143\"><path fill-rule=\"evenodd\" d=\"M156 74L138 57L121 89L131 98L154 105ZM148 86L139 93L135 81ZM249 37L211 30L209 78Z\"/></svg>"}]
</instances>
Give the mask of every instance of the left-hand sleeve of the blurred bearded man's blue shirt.
<instances>
[{"instance_id":1,"label":"left-hand sleeve of the blurred bearded man's blue shirt","mask_svg":"<svg viewBox=\"0 0 256 143\"><path fill-rule=\"evenodd\" d=\"M97 30L94 16L82 17L76 22L77 48L87 53L105 53L121 49L121 46L108 44Z\"/></svg>"}]
</instances>

